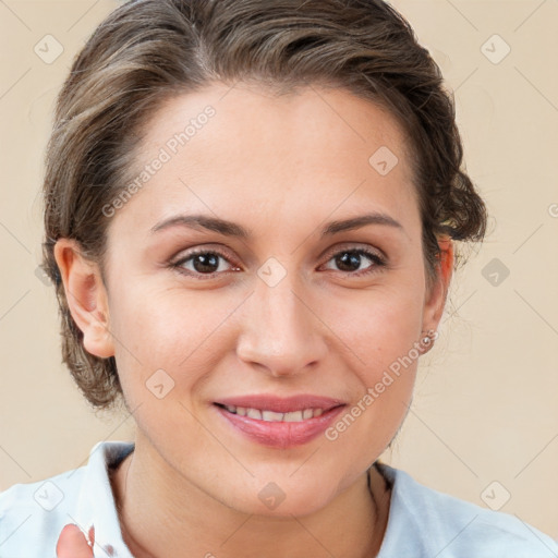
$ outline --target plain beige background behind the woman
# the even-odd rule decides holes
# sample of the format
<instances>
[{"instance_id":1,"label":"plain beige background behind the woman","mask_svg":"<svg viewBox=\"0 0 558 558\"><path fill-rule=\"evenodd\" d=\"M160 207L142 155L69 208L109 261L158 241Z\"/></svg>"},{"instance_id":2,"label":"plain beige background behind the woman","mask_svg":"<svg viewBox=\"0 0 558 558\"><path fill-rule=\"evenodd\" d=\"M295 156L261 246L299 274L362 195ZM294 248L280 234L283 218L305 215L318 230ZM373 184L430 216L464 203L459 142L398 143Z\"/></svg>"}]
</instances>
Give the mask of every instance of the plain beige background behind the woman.
<instances>
[{"instance_id":1,"label":"plain beige background behind the woman","mask_svg":"<svg viewBox=\"0 0 558 558\"><path fill-rule=\"evenodd\" d=\"M132 418L95 415L72 384L60 363L53 290L35 275L54 95L116 5L0 2L0 489L80 466L98 440L133 436ZM481 506L496 481L487 501L500 506L509 493L501 511L558 537L558 1L393 5L456 92L466 167L492 221L456 277L440 338L385 459ZM34 52L47 34L64 49L51 64ZM505 44L488 40L494 34L511 48L499 63ZM492 284L483 276L494 279L489 264L509 277Z\"/></svg>"}]
</instances>

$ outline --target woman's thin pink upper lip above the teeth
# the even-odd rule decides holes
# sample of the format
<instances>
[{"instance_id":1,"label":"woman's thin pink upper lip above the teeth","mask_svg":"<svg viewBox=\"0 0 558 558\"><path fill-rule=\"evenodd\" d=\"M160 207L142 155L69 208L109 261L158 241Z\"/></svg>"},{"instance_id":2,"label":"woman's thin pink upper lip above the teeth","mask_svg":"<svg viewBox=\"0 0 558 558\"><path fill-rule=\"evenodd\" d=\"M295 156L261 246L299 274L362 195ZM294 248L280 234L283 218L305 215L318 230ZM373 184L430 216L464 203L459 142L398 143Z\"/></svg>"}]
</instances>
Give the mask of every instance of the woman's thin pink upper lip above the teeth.
<instances>
[{"instance_id":1,"label":"woman's thin pink upper lip above the teeth","mask_svg":"<svg viewBox=\"0 0 558 558\"><path fill-rule=\"evenodd\" d=\"M259 411L274 411L276 413L291 413L293 411L303 411L304 409L323 409L329 411L335 407L344 405L344 401L329 397L302 393L291 397L277 397L268 393L239 396L219 399L215 401L221 405L244 407L248 409L258 409Z\"/></svg>"}]
</instances>

